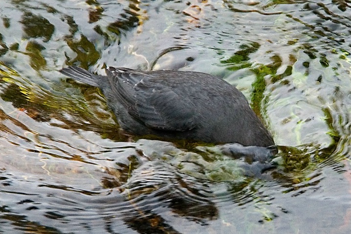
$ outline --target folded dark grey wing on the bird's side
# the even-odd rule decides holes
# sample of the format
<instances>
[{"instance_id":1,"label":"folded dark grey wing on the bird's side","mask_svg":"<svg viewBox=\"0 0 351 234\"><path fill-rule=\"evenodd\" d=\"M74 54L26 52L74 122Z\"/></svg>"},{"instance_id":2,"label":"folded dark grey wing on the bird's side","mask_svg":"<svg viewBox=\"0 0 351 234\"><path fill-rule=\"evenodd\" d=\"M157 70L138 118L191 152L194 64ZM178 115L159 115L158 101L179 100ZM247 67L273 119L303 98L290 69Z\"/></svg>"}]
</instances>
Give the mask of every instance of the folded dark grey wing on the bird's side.
<instances>
[{"instance_id":1,"label":"folded dark grey wing on the bird's side","mask_svg":"<svg viewBox=\"0 0 351 234\"><path fill-rule=\"evenodd\" d=\"M139 71L108 71L112 95L129 114L147 127L162 131L188 131L197 124L190 100L161 83L159 77Z\"/></svg>"}]
</instances>

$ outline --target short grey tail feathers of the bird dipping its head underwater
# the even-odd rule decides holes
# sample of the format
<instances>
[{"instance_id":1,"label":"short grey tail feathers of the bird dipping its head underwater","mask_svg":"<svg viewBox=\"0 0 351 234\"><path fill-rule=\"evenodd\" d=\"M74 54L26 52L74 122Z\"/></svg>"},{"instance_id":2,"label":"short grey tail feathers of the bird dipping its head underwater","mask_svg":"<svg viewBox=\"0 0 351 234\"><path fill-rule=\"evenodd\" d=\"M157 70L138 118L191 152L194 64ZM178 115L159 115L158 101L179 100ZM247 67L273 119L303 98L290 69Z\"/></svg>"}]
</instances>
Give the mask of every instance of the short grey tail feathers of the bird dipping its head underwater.
<instances>
[{"instance_id":1,"label":"short grey tail feathers of the bird dipping its head underwater","mask_svg":"<svg viewBox=\"0 0 351 234\"><path fill-rule=\"evenodd\" d=\"M100 86L99 80L103 78L98 75L93 75L89 71L76 66L69 66L67 68L63 68L62 70L60 70L60 72L76 81L80 81L95 87Z\"/></svg>"}]
</instances>

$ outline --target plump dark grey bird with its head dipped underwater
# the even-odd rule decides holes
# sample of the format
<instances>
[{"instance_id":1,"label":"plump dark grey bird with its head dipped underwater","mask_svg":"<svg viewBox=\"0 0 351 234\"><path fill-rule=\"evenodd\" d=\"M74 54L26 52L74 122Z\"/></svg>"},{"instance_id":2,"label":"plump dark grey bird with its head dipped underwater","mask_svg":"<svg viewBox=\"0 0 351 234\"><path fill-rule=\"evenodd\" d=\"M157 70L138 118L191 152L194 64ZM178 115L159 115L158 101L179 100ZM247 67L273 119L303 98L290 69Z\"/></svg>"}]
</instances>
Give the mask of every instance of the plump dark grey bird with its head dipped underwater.
<instances>
[{"instance_id":1,"label":"plump dark grey bird with its head dipped underwater","mask_svg":"<svg viewBox=\"0 0 351 234\"><path fill-rule=\"evenodd\" d=\"M120 127L134 135L274 145L245 96L219 77L195 71L113 67L106 69L107 76L75 66L60 72L100 88Z\"/></svg>"}]
</instances>

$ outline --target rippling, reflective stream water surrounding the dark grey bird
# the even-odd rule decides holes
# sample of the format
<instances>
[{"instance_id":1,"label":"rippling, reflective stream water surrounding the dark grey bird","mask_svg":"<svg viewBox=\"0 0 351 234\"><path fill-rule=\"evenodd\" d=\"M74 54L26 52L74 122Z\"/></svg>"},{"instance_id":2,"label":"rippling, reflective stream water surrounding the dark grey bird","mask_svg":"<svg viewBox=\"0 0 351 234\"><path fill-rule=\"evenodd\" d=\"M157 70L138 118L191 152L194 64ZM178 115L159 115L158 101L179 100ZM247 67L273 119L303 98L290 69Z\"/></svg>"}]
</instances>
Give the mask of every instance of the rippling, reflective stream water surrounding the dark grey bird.
<instances>
[{"instance_id":1,"label":"rippling, reflective stream water surrounding the dark grey bird","mask_svg":"<svg viewBox=\"0 0 351 234\"><path fill-rule=\"evenodd\" d=\"M350 0L2 0L0 234L350 233L350 50ZM67 65L219 76L278 166L130 136Z\"/></svg>"}]
</instances>

